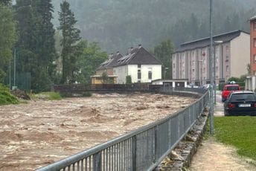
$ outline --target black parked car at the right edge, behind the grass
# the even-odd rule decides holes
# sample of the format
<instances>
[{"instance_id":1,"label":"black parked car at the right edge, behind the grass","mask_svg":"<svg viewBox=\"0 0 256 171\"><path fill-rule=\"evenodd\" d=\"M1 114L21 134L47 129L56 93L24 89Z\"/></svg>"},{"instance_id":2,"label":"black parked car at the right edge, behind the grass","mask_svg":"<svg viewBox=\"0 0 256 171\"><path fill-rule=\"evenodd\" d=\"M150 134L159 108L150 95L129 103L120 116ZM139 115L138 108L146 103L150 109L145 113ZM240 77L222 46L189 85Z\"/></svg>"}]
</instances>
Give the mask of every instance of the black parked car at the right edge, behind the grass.
<instances>
[{"instance_id":1,"label":"black parked car at the right edge, behind the grass","mask_svg":"<svg viewBox=\"0 0 256 171\"><path fill-rule=\"evenodd\" d=\"M256 95L252 91L233 91L224 102L225 116L256 116Z\"/></svg>"}]
</instances>

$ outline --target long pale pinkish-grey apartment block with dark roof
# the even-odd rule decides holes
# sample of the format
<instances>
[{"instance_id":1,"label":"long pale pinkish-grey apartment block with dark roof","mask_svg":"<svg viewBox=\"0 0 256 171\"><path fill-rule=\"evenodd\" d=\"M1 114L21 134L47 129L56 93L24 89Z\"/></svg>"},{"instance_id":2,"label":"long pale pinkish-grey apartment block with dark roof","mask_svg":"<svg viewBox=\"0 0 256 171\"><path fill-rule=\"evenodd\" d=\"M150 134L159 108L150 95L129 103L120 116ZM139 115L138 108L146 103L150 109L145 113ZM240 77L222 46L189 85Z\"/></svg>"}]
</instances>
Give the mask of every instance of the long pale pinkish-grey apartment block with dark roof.
<instances>
[{"instance_id":1,"label":"long pale pinkish-grey apartment block with dark roof","mask_svg":"<svg viewBox=\"0 0 256 171\"><path fill-rule=\"evenodd\" d=\"M213 36L216 83L247 73L250 63L250 35L234 30ZM210 37L185 42L173 53L173 79L188 79L202 86L210 83Z\"/></svg>"}]
</instances>

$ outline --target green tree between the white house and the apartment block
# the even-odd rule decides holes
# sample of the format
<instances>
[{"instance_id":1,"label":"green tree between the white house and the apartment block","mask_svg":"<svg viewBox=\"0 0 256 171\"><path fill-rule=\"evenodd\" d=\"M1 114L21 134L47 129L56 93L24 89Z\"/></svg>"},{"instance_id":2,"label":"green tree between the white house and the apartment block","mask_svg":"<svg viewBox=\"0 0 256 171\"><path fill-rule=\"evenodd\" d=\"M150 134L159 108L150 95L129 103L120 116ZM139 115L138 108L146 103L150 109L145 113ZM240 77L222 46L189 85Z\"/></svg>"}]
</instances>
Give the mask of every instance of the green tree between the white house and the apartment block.
<instances>
[{"instance_id":1,"label":"green tree between the white house and the apartment block","mask_svg":"<svg viewBox=\"0 0 256 171\"><path fill-rule=\"evenodd\" d=\"M172 73L171 55L173 54L173 43L170 39L160 42L160 44L156 45L154 48L154 54L156 58L162 62L161 75L165 75L166 78L170 79Z\"/></svg>"}]
</instances>

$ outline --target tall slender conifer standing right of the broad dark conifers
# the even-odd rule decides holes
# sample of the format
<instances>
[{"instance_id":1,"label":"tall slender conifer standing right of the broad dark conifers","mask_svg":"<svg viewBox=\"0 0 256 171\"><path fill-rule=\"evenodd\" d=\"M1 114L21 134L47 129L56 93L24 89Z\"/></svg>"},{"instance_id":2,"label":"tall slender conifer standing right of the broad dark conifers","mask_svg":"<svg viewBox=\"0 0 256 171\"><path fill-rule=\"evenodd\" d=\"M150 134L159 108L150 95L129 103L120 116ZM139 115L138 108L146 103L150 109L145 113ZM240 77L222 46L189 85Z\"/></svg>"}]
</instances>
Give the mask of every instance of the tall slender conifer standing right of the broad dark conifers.
<instances>
[{"instance_id":1,"label":"tall slender conifer standing right of the broad dark conifers","mask_svg":"<svg viewBox=\"0 0 256 171\"><path fill-rule=\"evenodd\" d=\"M74 18L74 13L70 10L70 5L67 1L63 1L60 4L60 27L59 30L62 31L62 42L63 50L61 57L63 59L63 77L61 83L72 83L74 79L74 68L77 63L76 57L74 56L74 51L76 50L76 43L80 40L80 30L74 28L77 20Z\"/></svg>"}]
</instances>

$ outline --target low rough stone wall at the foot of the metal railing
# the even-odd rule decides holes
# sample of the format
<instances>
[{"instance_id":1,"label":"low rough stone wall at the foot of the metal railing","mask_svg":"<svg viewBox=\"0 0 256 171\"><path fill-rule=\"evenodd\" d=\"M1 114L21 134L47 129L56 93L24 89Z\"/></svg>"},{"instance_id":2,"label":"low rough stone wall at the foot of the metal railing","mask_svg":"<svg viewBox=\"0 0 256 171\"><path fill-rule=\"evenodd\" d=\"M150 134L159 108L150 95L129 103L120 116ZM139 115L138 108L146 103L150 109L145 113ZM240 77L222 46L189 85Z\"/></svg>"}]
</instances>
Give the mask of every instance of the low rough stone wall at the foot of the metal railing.
<instances>
[{"instance_id":1,"label":"low rough stone wall at the foot of the metal railing","mask_svg":"<svg viewBox=\"0 0 256 171\"><path fill-rule=\"evenodd\" d=\"M156 170L188 170L187 168L191 165L192 157L202 142L202 135L205 132L207 120L208 112L204 111L188 132L188 135L178 143L164 161L161 161Z\"/></svg>"}]
</instances>

